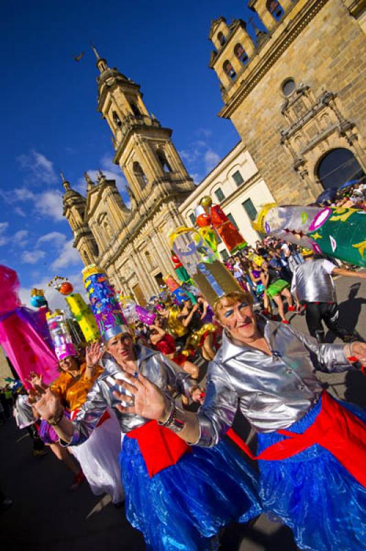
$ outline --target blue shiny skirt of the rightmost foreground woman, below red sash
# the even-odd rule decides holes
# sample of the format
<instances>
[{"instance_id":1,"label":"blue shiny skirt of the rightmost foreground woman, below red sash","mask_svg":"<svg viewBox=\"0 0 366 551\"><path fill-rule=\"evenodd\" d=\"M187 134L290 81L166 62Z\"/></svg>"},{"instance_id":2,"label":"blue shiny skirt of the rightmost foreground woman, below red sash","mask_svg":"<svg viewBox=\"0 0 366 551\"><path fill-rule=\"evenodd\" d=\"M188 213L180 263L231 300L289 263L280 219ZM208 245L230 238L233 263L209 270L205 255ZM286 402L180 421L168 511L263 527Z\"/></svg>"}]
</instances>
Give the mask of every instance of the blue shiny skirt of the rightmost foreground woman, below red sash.
<instances>
[{"instance_id":1,"label":"blue shiny skirt of the rightmost foreground woman, below red sash","mask_svg":"<svg viewBox=\"0 0 366 551\"><path fill-rule=\"evenodd\" d=\"M366 421L366 412L341 403ZM288 430L303 433L320 410L321 400ZM258 435L258 453L284 438ZM316 444L288 459L258 462L263 508L292 528L300 549L366 550L366 488L334 455Z\"/></svg>"}]
</instances>

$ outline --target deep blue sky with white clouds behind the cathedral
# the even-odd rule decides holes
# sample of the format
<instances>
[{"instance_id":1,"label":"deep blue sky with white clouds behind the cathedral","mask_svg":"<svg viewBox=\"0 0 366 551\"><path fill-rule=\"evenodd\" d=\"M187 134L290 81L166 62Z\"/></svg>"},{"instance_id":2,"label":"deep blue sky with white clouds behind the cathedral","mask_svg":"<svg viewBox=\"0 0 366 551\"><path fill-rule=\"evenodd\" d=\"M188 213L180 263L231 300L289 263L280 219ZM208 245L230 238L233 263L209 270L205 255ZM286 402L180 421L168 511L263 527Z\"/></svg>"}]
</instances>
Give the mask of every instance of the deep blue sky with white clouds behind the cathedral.
<instances>
[{"instance_id":1,"label":"deep blue sky with white clouds behind the cathedral","mask_svg":"<svg viewBox=\"0 0 366 551\"><path fill-rule=\"evenodd\" d=\"M208 69L211 21L248 19L246 1L13 0L1 6L0 263L17 270L21 297L54 275L80 288L82 264L62 217L59 172L83 191L84 171L124 178L111 162L111 131L96 111L92 41L110 67L139 83L150 112L196 181L239 141L217 117L219 83ZM85 52L76 63L73 56ZM51 293L55 307L56 293Z\"/></svg>"}]
</instances>

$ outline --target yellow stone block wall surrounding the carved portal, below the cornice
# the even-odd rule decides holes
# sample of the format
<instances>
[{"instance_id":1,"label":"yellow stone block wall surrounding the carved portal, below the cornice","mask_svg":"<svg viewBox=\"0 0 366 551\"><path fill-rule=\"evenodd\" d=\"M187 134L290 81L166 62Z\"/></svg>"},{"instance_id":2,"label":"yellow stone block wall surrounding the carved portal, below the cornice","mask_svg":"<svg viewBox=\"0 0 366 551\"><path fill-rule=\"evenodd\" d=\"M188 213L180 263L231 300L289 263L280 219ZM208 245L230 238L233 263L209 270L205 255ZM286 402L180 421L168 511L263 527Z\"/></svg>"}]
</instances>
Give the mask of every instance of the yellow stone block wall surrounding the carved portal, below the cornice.
<instances>
[{"instance_id":1,"label":"yellow stone block wall surrounding the carved portal, below the cornice","mask_svg":"<svg viewBox=\"0 0 366 551\"><path fill-rule=\"evenodd\" d=\"M292 12L288 17L291 15ZM285 23L283 21L283 25ZM281 32L286 32L286 28L283 27ZM277 38L275 31L263 50L270 51L270 41ZM310 202L322 189L319 183L316 184L314 173L309 174L313 185L301 178L294 169L294 158L281 145L280 131L288 126L281 114L284 99L281 83L288 77L292 77L297 85L310 86L315 98L325 90L336 94L336 104L343 117L356 125L357 138L351 145L347 136L337 135L336 141L325 141L323 149L350 149L365 169L360 136L366 114L365 50L365 35L356 19L350 17L341 0L329 0L279 59L271 67L268 63L263 78L229 114L278 202ZM261 56L261 51L258 56ZM222 110L222 116L228 116L225 110L230 108L230 103Z\"/></svg>"}]
</instances>

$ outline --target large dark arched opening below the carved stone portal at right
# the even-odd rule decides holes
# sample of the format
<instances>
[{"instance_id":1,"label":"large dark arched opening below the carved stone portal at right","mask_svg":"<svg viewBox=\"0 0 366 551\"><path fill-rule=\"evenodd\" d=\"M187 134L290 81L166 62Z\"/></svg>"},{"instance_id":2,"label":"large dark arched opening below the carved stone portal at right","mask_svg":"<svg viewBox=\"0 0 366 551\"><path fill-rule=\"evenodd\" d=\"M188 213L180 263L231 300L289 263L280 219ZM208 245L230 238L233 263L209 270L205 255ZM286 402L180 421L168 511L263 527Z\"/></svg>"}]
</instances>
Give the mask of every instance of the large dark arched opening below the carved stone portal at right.
<instances>
[{"instance_id":1,"label":"large dark arched opening below the carved stone portal at right","mask_svg":"<svg viewBox=\"0 0 366 551\"><path fill-rule=\"evenodd\" d=\"M324 189L341 185L365 176L354 154L343 147L337 147L321 158L316 169Z\"/></svg>"}]
</instances>

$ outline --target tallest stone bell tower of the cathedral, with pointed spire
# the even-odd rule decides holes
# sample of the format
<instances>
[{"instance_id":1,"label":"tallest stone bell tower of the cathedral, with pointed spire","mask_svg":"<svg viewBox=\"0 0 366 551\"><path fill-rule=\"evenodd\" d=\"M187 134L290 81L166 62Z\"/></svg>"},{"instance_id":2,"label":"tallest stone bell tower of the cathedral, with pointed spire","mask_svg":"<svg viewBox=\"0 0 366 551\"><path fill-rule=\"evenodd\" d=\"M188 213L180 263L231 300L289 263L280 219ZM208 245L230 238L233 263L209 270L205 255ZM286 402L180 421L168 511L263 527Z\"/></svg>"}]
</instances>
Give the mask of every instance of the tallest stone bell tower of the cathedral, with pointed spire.
<instances>
[{"instance_id":1,"label":"tallest stone bell tower of the cathedral, with pointed spire","mask_svg":"<svg viewBox=\"0 0 366 551\"><path fill-rule=\"evenodd\" d=\"M113 134L114 162L120 165L129 183L132 207L149 211L162 198L182 202L195 189L171 141L172 131L149 114L140 85L96 54L98 111Z\"/></svg>"}]
</instances>

